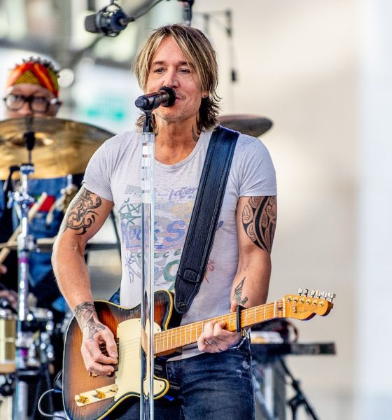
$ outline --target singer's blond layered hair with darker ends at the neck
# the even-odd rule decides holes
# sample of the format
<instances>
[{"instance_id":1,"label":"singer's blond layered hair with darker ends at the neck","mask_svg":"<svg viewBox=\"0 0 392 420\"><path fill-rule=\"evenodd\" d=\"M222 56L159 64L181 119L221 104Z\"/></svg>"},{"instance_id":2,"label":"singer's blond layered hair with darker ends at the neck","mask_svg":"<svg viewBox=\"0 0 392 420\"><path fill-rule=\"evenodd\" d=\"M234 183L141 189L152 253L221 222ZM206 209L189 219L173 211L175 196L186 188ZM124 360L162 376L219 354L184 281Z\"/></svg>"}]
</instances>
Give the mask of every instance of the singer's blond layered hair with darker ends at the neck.
<instances>
[{"instance_id":1,"label":"singer's blond layered hair with darker ends at the neck","mask_svg":"<svg viewBox=\"0 0 392 420\"><path fill-rule=\"evenodd\" d=\"M148 74L155 52L157 52L162 41L171 36L183 53L186 60L193 64L200 80L201 90L208 92L207 97L202 98L200 104L199 118L197 120L198 130L207 130L214 127L218 121L220 97L216 94L218 86L218 64L216 52L212 48L207 37L199 29L184 25L167 25L158 28L148 38L144 46L139 50L134 62L134 73L141 89L146 92ZM144 117L139 118L137 125L143 125ZM153 123L155 123L153 121Z\"/></svg>"}]
</instances>

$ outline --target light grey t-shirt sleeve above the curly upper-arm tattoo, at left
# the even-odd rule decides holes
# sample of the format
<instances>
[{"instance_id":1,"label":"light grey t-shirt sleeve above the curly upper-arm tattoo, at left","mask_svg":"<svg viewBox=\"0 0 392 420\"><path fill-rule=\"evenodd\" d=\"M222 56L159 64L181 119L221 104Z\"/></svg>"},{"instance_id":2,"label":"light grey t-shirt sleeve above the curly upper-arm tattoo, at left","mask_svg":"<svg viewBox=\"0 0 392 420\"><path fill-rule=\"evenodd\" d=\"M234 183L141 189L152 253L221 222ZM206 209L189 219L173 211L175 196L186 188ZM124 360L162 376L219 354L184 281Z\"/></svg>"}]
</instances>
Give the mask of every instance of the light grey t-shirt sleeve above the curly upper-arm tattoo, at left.
<instances>
[{"instance_id":1,"label":"light grey t-shirt sleeve above the curly upper-arm tattoo, at left","mask_svg":"<svg viewBox=\"0 0 392 420\"><path fill-rule=\"evenodd\" d=\"M111 165L107 141L102 144L88 162L83 179L83 187L105 200L113 201L111 193Z\"/></svg>"}]
</instances>

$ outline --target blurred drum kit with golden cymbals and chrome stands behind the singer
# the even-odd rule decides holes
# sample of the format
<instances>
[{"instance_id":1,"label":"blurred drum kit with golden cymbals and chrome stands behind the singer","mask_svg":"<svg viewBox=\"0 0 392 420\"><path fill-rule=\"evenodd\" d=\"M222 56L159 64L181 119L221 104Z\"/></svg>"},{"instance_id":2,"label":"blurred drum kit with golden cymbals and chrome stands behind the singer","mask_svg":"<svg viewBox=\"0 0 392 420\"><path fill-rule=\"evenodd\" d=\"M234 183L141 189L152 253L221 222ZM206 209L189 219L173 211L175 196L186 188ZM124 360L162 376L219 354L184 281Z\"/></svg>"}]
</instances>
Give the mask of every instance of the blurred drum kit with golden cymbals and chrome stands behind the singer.
<instances>
[{"instance_id":1,"label":"blurred drum kit with golden cymbals and chrome stands behind the singer","mask_svg":"<svg viewBox=\"0 0 392 420\"><path fill-rule=\"evenodd\" d=\"M221 116L220 123L254 137L272 127L270 120L258 116ZM28 290L30 253L49 252L55 241L29 235L29 223L46 198L45 192L37 201L29 195L30 179L66 177L67 186L53 204L53 209L65 212L78 190L73 175L83 174L94 151L112 136L94 125L54 117L28 116L0 122L0 179L15 184L8 193L8 205L20 218L13 235L0 243L0 264L11 250L18 252L18 306L15 309L9 302L7 306L6 298L0 298L0 396L13 396L13 419L27 419L29 377L43 375L49 385L50 364L57 357L52 345L56 328L52 311L36 307L36 299ZM51 222L50 211L46 222ZM91 244L87 251L116 247L118 244ZM66 316L60 325L61 333L67 320Z\"/></svg>"}]
</instances>

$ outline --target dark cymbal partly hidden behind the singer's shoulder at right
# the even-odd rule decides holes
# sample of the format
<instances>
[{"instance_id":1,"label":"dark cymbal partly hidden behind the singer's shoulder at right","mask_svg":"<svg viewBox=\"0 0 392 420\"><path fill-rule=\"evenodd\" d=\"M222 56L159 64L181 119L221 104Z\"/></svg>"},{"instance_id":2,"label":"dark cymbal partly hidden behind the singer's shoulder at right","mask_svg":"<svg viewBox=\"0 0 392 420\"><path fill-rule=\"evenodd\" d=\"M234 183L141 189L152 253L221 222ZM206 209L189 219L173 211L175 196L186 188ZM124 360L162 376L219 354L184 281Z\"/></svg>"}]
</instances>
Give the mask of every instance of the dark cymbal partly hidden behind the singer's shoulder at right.
<instances>
[{"instance_id":1,"label":"dark cymbal partly hidden behind the singer's shoulder at right","mask_svg":"<svg viewBox=\"0 0 392 420\"><path fill-rule=\"evenodd\" d=\"M248 114L238 114L229 116L219 116L219 123L231 130L237 130L248 136L259 137L267 132L273 125L268 118L251 116Z\"/></svg>"}]
</instances>

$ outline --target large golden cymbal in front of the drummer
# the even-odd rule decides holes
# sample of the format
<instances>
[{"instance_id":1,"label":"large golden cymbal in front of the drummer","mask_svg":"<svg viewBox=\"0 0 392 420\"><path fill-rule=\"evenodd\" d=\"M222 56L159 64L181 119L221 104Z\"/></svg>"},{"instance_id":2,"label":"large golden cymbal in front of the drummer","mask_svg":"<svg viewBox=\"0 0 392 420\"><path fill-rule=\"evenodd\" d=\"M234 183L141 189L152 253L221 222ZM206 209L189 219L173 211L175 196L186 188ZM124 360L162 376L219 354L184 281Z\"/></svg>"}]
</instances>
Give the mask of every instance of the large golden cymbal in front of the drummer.
<instances>
[{"instance_id":1,"label":"large golden cymbal in front of the drummer","mask_svg":"<svg viewBox=\"0 0 392 420\"><path fill-rule=\"evenodd\" d=\"M28 162L24 134L34 132L31 178L83 174L94 151L113 133L94 125L54 117L22 117L0 121L0 179L12 165Z\"/></svg>"}]
</instances>

